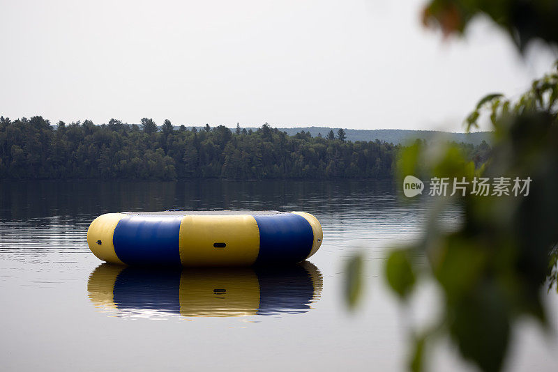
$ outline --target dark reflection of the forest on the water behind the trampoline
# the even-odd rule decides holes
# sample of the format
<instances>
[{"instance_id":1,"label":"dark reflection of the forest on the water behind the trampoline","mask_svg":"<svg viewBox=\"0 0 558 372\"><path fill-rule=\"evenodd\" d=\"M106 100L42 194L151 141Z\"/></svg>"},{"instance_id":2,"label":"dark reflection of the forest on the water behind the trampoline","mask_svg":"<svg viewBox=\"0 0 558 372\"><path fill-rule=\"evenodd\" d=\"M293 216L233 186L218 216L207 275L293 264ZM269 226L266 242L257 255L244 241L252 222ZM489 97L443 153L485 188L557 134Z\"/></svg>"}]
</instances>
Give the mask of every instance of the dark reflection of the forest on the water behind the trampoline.
<instances>
[{"instance_id":1,"label":"dark reflection of the forest on the water behind the trampoline","mask_svg":"<svg viewBox=\"0 0 558 372\"><path fill-rule=\"evenodd\" d=\"M105 212L211 209L304 209L338 215L355 206L393 207L391 182L348 181L20 181L0 185L0 219L50 224L56 216L89 223ZM371 197L374 196L374 197ZM364 209L364 208L363 208Z\"/></svg>"}]
</instances>

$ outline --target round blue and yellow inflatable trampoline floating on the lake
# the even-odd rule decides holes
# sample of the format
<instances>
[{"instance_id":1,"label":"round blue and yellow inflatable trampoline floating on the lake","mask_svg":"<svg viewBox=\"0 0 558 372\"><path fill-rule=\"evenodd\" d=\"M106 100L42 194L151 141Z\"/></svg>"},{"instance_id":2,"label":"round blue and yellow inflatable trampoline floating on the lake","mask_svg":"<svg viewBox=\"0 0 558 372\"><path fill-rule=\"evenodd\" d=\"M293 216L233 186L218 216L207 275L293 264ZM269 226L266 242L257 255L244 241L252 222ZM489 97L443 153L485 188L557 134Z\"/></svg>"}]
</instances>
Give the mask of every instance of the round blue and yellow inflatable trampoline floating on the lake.
<instances>
[{"instance_id":1,"label":"round blue and yellow inflatable trampoline floating on the lake","mask_svg":"<svg viewBox=\"0 0 558 372\"><path fill-rule=\"evenodd\" d=\"M299 263L322 238L309 213L246 210L107 213L87 231L89 249L103 261L186 267Z\"/></svg>"}]
</instances>

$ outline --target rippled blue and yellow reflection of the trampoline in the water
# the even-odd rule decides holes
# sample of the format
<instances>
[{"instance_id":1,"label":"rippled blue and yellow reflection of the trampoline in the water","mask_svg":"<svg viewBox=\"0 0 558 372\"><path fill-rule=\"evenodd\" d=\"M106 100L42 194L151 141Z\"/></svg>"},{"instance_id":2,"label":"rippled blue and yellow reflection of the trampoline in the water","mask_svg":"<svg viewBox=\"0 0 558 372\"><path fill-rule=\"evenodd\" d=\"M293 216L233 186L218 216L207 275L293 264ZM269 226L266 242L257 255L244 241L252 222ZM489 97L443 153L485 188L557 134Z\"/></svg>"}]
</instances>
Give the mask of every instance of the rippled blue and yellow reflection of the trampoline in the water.
<instances>
[{"instance_id":1,"label":"rippled blue and yellow reflection of the trampoline in the water","mask_svg":"<svg viewBox=\"0 0 558 372\"><path fill-rule=\"evenodd\" d=\"M159 269L103 263L87 284L89 300L119 316L250 316L305 313L322 274L304 261L286 267Z\"/></svg>"}]
</instances>

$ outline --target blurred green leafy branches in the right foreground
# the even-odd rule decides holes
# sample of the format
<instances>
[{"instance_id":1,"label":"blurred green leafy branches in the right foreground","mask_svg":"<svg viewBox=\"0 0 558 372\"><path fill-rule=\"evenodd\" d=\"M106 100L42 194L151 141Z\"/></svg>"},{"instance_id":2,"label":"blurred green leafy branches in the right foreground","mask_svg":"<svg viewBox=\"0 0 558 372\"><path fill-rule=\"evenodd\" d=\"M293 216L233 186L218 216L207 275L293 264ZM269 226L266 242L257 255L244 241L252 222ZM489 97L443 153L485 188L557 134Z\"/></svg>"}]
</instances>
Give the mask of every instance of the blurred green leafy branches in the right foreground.
<instances>
[{"instance_id":1,"label":"blurred green leafy branches in the right foreground","mask_svg":"<svg viewBox=\"0 0 558 372\"><path fill-rule=\"evenodd\" d=\"M557 45L556 1L432 0L424 17L427 24L451 34L462 33L477 14L502 26L520 51L534 38ZM557 290L558 275L558 64L518 100L502 94L480 100L465 121L467 130L476 127L484 113L494 139L490 160L480 167L455 146L416 144L400 153L400 180L415 175L468 182L465 196L437 199L420 242L393 249L386 258L384 277L403 304L421 280L433 281L442 293L435 323L409 332L413 371L425 369L428 350L443 336L482 371L500 371L520 318L533 318L543 328L549 325L543 296ZM527 196L478 196L470 188L474 177L481 176L529 177L532 183ZM442 231L437 222L455 202L462 206L464 220L455 231ZM361 272L361 265L361 256L347 263L346 298L351 306L359 299L355 293L362 284L355 271Z\"/></svg>"}]
</instances>

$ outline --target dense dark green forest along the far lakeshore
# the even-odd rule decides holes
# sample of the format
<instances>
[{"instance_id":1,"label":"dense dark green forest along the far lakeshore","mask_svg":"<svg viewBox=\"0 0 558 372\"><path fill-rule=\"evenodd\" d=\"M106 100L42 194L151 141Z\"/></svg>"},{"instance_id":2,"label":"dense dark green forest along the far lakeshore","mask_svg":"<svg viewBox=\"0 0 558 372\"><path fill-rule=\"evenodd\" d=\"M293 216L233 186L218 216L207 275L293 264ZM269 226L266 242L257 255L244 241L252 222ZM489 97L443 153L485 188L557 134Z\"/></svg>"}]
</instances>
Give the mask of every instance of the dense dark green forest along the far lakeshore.
<instances>
[{"instance_id":1,"label":"dense dark green forest along the far lakeshore","mask_svg":"<svg viewBox=\"0 0 558 372\"><path fill-rule=\"evenodd\" d=\"M490 146L461 144L476 163ZM346 141L333 130L293 136L264 124L252 131L219 125L203 130L152 119L128 125L112 119L56 127L41 116L0 117L0 178L373 178L393 176L400 145Z\"/></svg>"}]
</instances>

